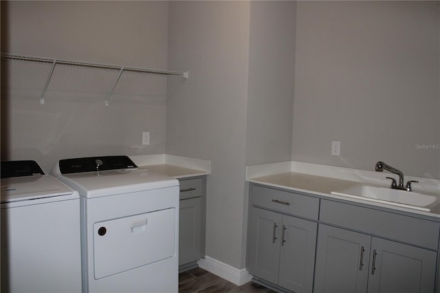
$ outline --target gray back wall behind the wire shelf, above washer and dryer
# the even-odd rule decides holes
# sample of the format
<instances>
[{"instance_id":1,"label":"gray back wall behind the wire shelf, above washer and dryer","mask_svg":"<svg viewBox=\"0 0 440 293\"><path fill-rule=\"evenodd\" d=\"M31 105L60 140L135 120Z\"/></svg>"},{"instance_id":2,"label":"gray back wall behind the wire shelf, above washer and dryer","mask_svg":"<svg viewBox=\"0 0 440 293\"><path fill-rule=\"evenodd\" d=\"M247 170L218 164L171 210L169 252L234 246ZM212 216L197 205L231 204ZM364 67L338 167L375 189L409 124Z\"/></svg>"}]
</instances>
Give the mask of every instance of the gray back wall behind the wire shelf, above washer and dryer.
<instances>
[{"instance_id":1,"label":"gray back wall behind the wire shelf, above washer and dryer","mask_svg":"<svg viewBox=\"0 0 440 293\"><path fill-rule=\"evenodd\" d=\"M1 52L166 69L167 49L165 1L1 1ZM117 72L57 65L40 105L50 65L1 69L2 160L165 152L166 77L123 74L105 107Z\"/></svg>"}]
</instances>

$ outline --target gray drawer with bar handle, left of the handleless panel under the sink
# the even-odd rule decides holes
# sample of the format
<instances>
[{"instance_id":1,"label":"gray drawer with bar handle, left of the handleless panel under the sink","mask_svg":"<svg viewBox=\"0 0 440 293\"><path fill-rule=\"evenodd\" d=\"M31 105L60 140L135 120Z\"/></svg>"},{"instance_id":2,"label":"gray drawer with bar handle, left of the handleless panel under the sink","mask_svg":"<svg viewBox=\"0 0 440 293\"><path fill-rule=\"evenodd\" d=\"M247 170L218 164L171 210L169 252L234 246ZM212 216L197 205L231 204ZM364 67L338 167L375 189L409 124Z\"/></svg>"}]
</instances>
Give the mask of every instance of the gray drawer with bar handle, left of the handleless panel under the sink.
<instances>
[{"instance_id":1,"label":"gray drawer with bar handle, left of the handleless panel under the sink","mask_svg":"<svg viewBox=\"0 0 440 293\"><path fill-rule=\"evenodd\" d=\"M254 206L298 217L318 219L319 199L317 197L298 195L258 185L252 185L251 193Z\"/></svg>"}]
</instances>

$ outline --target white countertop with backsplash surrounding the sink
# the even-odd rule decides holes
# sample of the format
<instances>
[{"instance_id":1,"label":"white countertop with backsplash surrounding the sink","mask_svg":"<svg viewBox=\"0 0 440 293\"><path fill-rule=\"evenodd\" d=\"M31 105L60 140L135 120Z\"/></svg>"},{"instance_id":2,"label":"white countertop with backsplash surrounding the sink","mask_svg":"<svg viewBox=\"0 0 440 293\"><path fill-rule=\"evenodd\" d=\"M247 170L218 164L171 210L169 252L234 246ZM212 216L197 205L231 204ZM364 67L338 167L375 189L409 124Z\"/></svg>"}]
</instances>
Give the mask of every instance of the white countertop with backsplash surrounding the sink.
<instances>
[{"instance_id":1,"label":"white countertop with backsplash surrounding the sink","mask_svg":"<svg viewBox=\"0 0 440 293\"><path fill-rule=\"evenodd\" d=\"M290 169L290 170L289 170ZM299 170L301 172L298 172ZM333 169L333 170L332 170ZM314 172L316 170L316 172ZM307 173L303 173L303 171ZM315 175L318 173L319 175ZM331 176L333 175L333 176ZM360 184L371 186L389 186L389 180L383 180L388 174L371 171L360 171L353 169L344 169L339 167L322 166L316 164L307 164L301 162L281 162L276 164L266 164L259 166L250 166L247 169L247 181L266 186L284 188L292 191L311 193L322 197L343 199L348 202L359 202L371 206L380 206L382 208L391 208L404 212L415 213L417 215L426 215L429 217L440 218L440 182L428 178L410 177L406 180L418 179L423 187L417 189L418 192L426 193L439 197L439 201L429 206L430 211L416 210L391 204L382 204L371 202L360 197L351 198L342 195L332 195L332 191L338 191ZM386 185L388 184L388 185Z\"/></svg>"}]
</instances>

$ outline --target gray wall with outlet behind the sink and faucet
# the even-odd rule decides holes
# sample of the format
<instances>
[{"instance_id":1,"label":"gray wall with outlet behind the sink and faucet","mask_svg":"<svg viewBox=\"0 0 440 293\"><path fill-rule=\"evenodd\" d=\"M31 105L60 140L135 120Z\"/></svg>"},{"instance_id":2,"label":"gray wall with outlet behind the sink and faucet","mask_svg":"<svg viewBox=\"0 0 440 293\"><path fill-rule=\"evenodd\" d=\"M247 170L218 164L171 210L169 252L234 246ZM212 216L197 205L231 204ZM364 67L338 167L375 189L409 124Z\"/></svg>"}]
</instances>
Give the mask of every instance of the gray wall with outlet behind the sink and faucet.
<instances>
[{"instance_id":1,"label":"gray wall with outlet behind the sink and faucet","mask_svg":"<svg viewBox=\"0 0 440 293\"><path fill-rule=\"evenodd\" d=\"M440 178L439 7L298 2L292 160Z\"/></svg>"}]
</instances>

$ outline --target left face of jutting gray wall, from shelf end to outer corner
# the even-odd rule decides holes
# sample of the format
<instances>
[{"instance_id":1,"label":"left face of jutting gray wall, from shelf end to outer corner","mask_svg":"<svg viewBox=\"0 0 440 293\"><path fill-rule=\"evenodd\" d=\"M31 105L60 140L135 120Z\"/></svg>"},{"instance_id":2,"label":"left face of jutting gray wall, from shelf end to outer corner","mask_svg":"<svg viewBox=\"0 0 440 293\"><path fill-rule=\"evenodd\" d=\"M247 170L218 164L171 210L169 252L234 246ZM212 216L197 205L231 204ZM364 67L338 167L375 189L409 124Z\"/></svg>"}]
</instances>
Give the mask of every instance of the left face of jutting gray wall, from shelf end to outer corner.
<instances>
[{"instance_id":1,"label":"left face of jutting gray wall, from shelf end to outer corner","mask_svg":"<svg viewBox=\"0 0 440 293\"><path fill-rule=\"evenodd\" d=\"M170 3L166 153L211 160L206 254L243 268L250 2Z\"/></svg>"}]
</instances>

